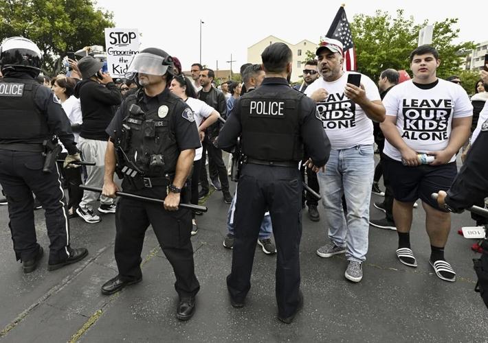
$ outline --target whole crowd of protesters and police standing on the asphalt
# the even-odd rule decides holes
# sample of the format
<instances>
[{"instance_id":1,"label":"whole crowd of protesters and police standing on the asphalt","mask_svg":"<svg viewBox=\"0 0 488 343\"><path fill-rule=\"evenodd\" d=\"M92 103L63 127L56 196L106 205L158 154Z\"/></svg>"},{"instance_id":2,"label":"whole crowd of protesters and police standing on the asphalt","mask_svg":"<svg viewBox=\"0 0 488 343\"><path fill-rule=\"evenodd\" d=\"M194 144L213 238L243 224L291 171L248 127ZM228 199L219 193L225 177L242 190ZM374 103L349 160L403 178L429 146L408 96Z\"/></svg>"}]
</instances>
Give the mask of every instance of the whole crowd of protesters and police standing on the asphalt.
<instances>
[{"instance_id":1,"label":"whole crowd of protesters and police standing on the asphalt","mask_svg":"<svg viewBox=\"0 0 488 343\"><path fill-rule=\"evenodd\" d=\"M14 43L9 49L15 49ZM7 48L8 42L0 53L5 54ZM25 178L38 180L43 174L34 178L34 174L0 170L6 196L0 203L9 205L14 250L24 271L33 272L43 253L35 234L25 241L23 234L32 231L34 217L30 215L25 224L20 215L28 209L16 200L28 199L32 210L32 191L46 211L46 220L52 222L47 225L49 238L57 242L49 255L52 269L80 261L88 253L70 247L67 218L94 224L102 215L115 213L119 273L102 286L103 294L142 280L140 252L144 232L152 224L175 270L180 297L177 317L188 320L200 287L190 237L198 233L196 215L203 213L181 209L179 204L197 205L213 187L230 204L223 246L233 249L227 280L232 305L245 303L258 244L265 254L278 255L278 318L291 322L303 302L298 262L302 209L307 208L310 220L321 220L318 199L302 189L302 180L307 180L308 187L321 194L325 214L326 235L316 254L322 258L345 254L348 281L362 281L370 226L397 230L398 261L417 267L410 228L419 199L431 246L428 263L440 279L456 281L456 272L444 256L451 227L449 209L439 206L431 194L450 188L458 171L457 154L467 154L488 119L488 72L481 71L470 99L458 77L441 80L436 76L441 58L429 45L411 52L411 79L404 71L385 69L377 82L362 73L344 71L344 49L338 40L325 38L315 52L317 59L304 63L302 82L293 89L287 79L291 51L278 43L263 51L263 64L243 65L242 82L221 84L212 69L199 63L191 64L190 74L184 75L177 57L156 48L141 51L124 80L103 73L102 62L92 56L69 60L69 76L48 78L37 75L38 63L10 63L6 54L2 82L23 84L23 94L35 92L25 104L16 94L6 93L10 97L0 97L0 108L12 110L32 100L32 107L42 115L52 108L38 104L52 99L60 106L55 112L64 115L38 124L46 126L42 137L56 134L63 143L62 178L54 165L50 183L39 189ZM355 84L351 75L360 81ZM42 137L33 133L34 141L19 138L8 132L15 130L8 119L0 116L0 158L14 152L39 158ZM232 194L231 161L225 161L222 150L235 152L239 137L245 166ZM376 166L375 144L380 156ZM82 160L93 165L76 165ZM124 191L163 198L164 206L126 198L115 202L120 179ZM64 194L52 194L52 199L46 195L46 187L58 180L64 181L68 191L66 206ZM82 191L82 183L103 191ZM374 203L384 211L384 218L370 219L371 193L384 197L383 202ZM477 204L485 206L483 199ZM65 221L55 219L59 217ZM474 215L473 219L478 226L487 224L487 218ZM51 234L62 230L60 239ZM181 233L175 241L177 232Z\"/></svg>"}]
</instances>

